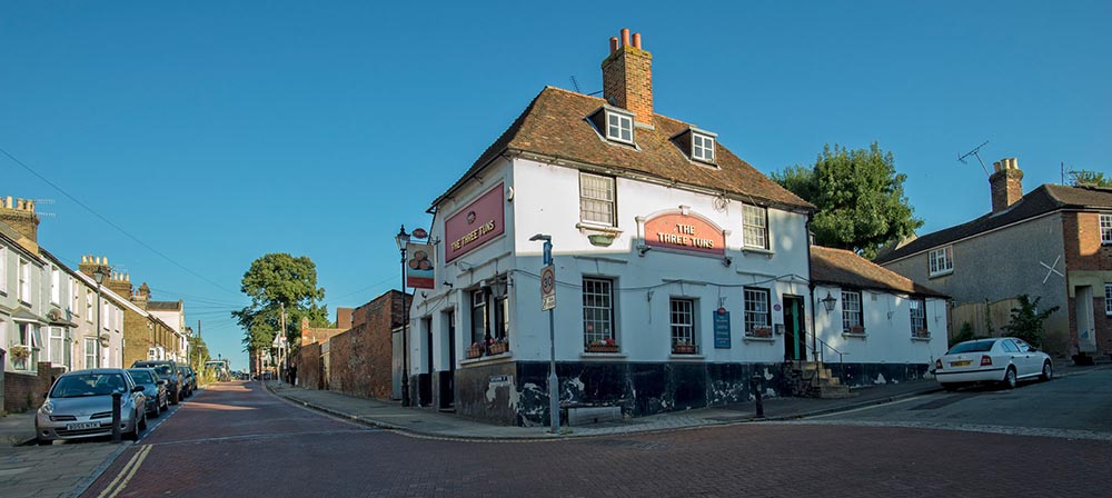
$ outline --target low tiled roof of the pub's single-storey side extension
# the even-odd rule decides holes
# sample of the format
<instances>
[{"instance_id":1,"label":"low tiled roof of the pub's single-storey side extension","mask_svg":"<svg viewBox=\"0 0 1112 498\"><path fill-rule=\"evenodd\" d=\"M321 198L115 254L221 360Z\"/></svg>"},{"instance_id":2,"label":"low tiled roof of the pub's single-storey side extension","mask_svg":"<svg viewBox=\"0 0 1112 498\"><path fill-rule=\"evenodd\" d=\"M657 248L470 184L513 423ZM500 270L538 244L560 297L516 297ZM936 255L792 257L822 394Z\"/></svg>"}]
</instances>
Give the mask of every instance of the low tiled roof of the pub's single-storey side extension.
<instances>
[{"instance_id":1,"label":"low tiled roof of the pub's single-storey side extension","mask_svg":"<svg viewBox=\"0 0 1112 498\"><path fill-rule=\"evenodd\" d=\"M945 298L944 293L862 258L853 251L811 246L811 281L858 289L906 292Z\"/></svg>"}]
</instances>

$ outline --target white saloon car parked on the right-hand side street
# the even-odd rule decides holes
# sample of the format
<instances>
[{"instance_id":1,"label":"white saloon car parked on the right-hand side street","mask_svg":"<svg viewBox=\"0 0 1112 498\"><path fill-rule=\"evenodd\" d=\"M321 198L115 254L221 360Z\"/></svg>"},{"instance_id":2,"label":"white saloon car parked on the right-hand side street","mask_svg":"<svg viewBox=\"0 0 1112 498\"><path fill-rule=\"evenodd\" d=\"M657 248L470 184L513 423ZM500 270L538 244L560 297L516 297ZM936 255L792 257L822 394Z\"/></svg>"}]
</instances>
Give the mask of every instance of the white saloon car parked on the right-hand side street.
<instances>
[{"instance_id":1,"label":"white saloon car parked on the right-hand side street","mask_svg":"<svg viewBox=\"0 0 1112 498\"><path fill-rule=\"evenodd\" d=\"M1020 379L1053 376L1050 356L1014 337L960 342L934 361L934 377L946 390L974 382L1003 382L1012 389Z\"/></svg>"}]
</instances>

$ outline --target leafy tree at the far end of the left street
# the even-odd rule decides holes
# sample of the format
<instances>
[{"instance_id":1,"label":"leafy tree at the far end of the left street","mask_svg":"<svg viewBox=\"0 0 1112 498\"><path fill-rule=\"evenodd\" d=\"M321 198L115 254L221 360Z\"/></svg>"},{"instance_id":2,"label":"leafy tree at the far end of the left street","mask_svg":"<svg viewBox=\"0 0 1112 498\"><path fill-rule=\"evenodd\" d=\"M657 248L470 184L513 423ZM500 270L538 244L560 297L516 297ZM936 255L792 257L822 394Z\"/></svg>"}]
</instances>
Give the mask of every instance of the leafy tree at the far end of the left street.
<instances>
[{"instance_id":1,"label":"leafy tree at the far end of the left street","mask_svg":"<svg viewBox=\"0 0 1112 498\"><path fill-rule=\"evenodd\" d=\"M317 266L306 256L276 252L256 259L244 273L240 291L251 303L231 316L244 329L245 351L270 347L281 328L282 306L290 343L300 338L301 318L308 318L312 327L330 325L328 309L320 305L325 289L317 288Z\"/></svg>"}]
</instances>

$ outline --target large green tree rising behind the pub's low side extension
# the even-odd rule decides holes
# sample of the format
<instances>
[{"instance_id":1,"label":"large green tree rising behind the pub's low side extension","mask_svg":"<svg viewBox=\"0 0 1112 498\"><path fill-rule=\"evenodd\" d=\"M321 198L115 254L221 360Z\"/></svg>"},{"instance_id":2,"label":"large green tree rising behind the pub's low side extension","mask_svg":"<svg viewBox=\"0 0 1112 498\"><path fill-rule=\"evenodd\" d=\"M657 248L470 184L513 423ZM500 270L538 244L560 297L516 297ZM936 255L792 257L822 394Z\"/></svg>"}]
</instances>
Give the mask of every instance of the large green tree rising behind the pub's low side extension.
<instances>
[{"instance_id":1,"label":"large green tree rising behind the pub's low side extension","mask_svg":"<svg viewBox=\"0 0 1112 498\"><path fill-rule=\"evenodd\" d=\"M883 245L923 226L904 196L906 175L896 173L892 152L823 147L813 167L790 166L772 179L818 208L811 223L815 242L872 259Z\"/></svg>"}]
</instances>

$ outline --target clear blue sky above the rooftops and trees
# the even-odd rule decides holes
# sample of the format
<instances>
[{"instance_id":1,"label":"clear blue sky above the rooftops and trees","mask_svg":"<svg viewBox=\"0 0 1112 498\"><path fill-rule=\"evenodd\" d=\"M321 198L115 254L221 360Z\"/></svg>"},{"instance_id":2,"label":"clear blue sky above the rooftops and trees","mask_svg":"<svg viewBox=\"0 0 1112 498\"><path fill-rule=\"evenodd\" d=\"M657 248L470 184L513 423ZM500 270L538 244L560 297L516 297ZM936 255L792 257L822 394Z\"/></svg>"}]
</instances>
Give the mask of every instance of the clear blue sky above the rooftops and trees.
<instances>
[{"instance_id":1,"label":"clear blue sky above the rooftops and trees","mask_svg":"<svg viewBox=\"0 0 1112 498\"><path fill-rule=\"evenodd\" d=\"M921 232L987 211L985 173L956 161L985 140L1025 191L1062 162L1112 172L1106 0L625 6L4 1L0 148L142 243L6 157L0 195L53 199L47 249L183 299L238 369L251 260L310 257L332 318L397 288L399 223L427 228L544 86L599 90L624 27L659 113L766 173L878 141Z\"/></svg>"}]
</instances>

